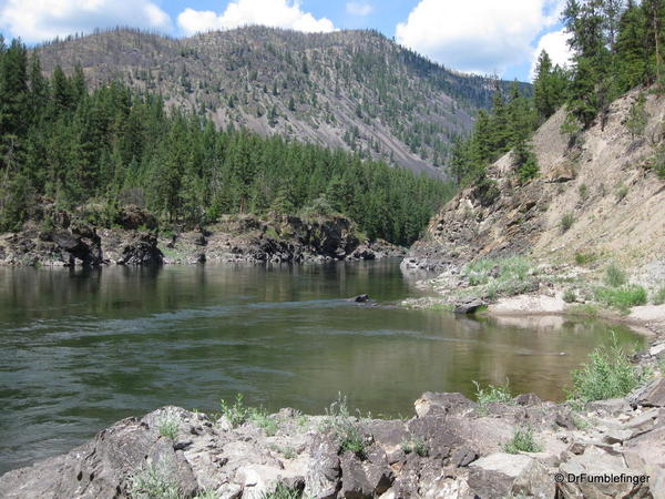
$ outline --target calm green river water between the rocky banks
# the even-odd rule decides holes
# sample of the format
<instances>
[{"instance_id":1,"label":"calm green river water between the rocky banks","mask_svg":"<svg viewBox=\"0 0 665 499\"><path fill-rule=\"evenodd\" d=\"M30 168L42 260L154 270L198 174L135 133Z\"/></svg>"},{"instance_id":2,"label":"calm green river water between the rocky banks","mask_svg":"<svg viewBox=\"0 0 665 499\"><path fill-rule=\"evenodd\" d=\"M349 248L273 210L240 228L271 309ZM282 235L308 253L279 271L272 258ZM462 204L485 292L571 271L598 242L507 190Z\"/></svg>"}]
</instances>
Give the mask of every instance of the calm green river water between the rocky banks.
<instances>
[{"instance_id":1,"label":"calm green river water between the rocky banks","mask_svg":"<svg viewBox=\"0 0 665 499\"><path fill-rule=\"evenodd\" d=\"M361 293L376 304L345 299ZM472 395L473 379L560 399L570 370L610 338L600 322L500 324L395 306L417 295L398 262L0 268L0 472L126 416L166 404L214 410L238 391L306 413L342 393L392 416L410 416L427 390Z\"/></svg>"}]
</instances>

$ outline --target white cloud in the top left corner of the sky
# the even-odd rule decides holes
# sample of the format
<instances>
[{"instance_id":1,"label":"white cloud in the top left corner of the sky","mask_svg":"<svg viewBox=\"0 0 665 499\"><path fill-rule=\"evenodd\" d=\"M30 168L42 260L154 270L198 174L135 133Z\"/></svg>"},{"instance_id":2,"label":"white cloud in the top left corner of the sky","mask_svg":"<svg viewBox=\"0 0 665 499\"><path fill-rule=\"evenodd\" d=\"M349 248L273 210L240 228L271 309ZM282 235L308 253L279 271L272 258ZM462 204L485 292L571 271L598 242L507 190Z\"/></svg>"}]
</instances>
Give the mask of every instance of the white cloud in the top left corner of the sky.
<instances>
[{"instance_id":1,"label":"white cloud in the top left corner of the sky","mask_svg":"<svg viewBox=\"0 0 665 499\"><path fill-rule=\"evenodd\" d=\"M0 6L0 26L28 42L115 26L171 30L168 14L150 0L7 0Z\"/></svg>"}]
</instances>

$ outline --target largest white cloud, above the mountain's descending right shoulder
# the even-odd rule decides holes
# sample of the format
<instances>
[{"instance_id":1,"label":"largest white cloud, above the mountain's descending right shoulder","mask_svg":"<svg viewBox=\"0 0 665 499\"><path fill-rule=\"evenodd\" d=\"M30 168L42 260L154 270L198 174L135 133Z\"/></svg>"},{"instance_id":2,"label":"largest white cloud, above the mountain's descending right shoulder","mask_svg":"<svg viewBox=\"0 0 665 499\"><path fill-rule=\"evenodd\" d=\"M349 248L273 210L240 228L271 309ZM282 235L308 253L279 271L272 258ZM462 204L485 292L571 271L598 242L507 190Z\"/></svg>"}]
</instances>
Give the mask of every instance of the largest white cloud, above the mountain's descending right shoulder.
<instances>
[{"instance_id":1,"label":"largest white cloud, above the mountain's descending right shoulder","mask_svg":"<svg viewBox=\"0 0 665 499\"><path fill-rule=\"evenodd\" d=\"M420 0L396 38L462 71L502 74L530 62L533 43L556 23L562 0Z\"/></svg>"}]
</instances>

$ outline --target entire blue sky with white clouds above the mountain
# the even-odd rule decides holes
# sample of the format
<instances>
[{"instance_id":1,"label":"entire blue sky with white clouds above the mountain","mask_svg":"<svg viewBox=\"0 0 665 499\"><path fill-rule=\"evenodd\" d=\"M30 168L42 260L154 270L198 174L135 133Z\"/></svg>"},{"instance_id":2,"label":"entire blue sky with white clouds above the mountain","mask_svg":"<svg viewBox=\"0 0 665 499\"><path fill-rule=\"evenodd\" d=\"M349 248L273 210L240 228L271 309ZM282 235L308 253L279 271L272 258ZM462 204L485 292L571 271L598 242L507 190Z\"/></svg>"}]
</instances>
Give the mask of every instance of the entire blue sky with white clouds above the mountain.
<instances>
[{"instance_id":1,"label":"entire blue sky with white clouds above the mountain","mask_svg":"<svg viewBox=\"0 0 665 499\"><path fill-rule=\"evenodd\" d=\"M33 44L130 26L173 37L265 24L372 28L447 68L529 81L542 49L569 59L564 0L0 0L0 32Z\"/></svg>"}]
</instances>

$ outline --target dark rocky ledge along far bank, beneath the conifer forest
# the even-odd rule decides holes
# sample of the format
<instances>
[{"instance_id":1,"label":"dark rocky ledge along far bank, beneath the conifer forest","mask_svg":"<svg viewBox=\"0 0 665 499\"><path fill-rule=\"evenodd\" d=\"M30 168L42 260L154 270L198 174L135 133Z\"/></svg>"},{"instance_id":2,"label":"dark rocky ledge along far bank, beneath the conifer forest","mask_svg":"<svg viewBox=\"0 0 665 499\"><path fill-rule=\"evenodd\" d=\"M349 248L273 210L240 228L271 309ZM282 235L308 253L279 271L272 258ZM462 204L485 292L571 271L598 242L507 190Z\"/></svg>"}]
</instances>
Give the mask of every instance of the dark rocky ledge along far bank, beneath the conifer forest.
<instances>
[{"instance_id":1,"label":"dark rocky ledge along far bank, beneath the conifer forest","mask_svg":"<svg viewBox=\"0 0 665 499\"><path fill-rule=\"evenodd\" d=\"M359 237L341 216L300 218L226 216L197 231L160 233L136 207L121 212L113 228L80 222L63 212L44 226L27 223L0 235L0 265L98 266L205 262L326 262L401 257L406 249Z\"/></svg>"}]
</instances>

